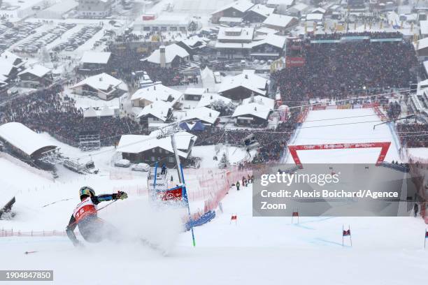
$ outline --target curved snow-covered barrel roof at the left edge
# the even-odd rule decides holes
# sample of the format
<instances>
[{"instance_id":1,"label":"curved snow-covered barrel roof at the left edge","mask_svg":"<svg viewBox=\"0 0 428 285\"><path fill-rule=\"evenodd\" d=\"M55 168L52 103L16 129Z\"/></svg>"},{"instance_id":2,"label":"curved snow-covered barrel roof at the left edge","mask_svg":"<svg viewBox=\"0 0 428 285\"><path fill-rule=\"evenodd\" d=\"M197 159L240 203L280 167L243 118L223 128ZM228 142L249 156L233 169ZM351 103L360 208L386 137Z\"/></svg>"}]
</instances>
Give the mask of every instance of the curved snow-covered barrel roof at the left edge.
<instances>
[{"instance_id":1,"label":"curved snow-covered barrel roof at the left edge","mask_svg":"<svg viewBox=\"0 0 428 285\"><path fill-rule=\"evenodd\" d=\"M31 156L38 149L44 147L57 148L45 137L31 131L27 126L17 122L10 122L0 126L0 138L6 140L10 145L17 147L22 152Z\"/></svg>"}]
</instances>

